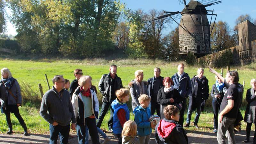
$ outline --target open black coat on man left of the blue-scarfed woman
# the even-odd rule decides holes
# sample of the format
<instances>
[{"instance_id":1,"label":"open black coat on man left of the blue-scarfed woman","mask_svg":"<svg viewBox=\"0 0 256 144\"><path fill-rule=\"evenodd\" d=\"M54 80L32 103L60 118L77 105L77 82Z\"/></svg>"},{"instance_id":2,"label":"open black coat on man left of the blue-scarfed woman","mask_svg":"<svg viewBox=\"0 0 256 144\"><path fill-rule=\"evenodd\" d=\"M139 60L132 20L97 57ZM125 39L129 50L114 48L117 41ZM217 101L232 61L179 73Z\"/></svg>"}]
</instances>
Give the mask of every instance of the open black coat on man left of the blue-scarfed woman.
<instances>
[{"instance_id":1,"label":"open black coat on man left of the blue-scarfed woman","mask_svg":"<svg viewBox=\"0 0 256 144\"><path fill-rule=\"evenodd\" d=\"M201 111L204 111L204 104L209 97L209 85L208 79L203 76L201 84L201 93L198 92L198 82L197 76L192 77L192 93L189 96L189 106L188 110L196 110L196 108L201 107Z\"/></svg>"}]
</instances>

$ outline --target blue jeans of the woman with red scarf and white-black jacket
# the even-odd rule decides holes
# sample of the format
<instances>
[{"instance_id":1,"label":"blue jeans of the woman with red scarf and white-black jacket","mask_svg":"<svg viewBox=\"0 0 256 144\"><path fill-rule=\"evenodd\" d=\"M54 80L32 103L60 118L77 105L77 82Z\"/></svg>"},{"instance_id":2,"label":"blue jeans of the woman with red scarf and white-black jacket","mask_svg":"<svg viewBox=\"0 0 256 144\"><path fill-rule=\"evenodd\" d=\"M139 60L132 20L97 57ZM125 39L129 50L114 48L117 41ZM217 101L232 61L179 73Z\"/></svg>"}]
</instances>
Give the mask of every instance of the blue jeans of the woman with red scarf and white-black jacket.
<instances>
[{"instance_id":1,"label":"blue jeans of the woman with red scarf and white-black jacket","mask_svg":"<svg viewBox=\"0 0 256 144\"><path fill-rule=\"evenodd\" d=\"M85 125L89 129L90 136L92 137L92 143L93 144L100 144L99 143L99 135L97 131L97 125L96 125L96 119L86 117L85 118ZM85 144L86 140L86 126L83 124L76 124L76 134L78 136L78 143L79 144Z\"/></svg>"}]
</instances>

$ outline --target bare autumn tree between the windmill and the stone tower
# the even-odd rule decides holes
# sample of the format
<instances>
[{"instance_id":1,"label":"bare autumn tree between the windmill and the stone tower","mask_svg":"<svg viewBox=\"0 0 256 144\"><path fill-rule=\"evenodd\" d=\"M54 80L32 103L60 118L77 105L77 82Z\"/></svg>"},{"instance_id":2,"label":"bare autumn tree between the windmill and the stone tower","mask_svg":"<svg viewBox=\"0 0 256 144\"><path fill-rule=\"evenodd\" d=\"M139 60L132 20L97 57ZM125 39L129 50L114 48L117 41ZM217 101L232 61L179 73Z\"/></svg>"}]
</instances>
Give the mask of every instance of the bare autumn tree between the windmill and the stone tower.
<instances>
[{"instance_id":1,"label":"bare autumn tree between the windmill and the stone tower","mask_svg":"<svg viewBox=\"0 0 256 144\"><path fill-rule=\"evenodd\" d=\"M211 24L211 28L213 23ZM234 38L231 36L231 29L227 22L218 21L215 23L211 34L211 45L213 49L218 51L224 50L229 47L235 46L232 41Z\"/></svg>"}]
</instances>

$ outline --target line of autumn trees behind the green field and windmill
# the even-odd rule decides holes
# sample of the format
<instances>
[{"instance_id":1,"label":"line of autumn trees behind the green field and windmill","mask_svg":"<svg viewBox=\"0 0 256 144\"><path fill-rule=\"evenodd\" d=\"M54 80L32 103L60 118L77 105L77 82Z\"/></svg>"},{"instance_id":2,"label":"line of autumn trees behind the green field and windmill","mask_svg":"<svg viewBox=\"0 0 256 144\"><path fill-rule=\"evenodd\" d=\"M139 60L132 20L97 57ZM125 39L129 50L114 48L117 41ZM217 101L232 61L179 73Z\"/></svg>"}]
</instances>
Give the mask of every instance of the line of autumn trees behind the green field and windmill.
<instances>
[{"instance_id":1,"label":"line of autumn trees behind the green field and windmill","mask_svg":"<svg viewBox=\"0 0 256 144\"><path fill-rule=\"evenodd\" d=\"M131 10L119 0L0 0L0 33L6 28L5 7L17 28L18 54L92 58L119 51L131 58L180 60L178 27L166 34L170 22L152 21L162 11ZM244 20L253 18L239 16L233 29L216 22L212 49L238 44L237 25Z\"/></svg>"}]
</instances>

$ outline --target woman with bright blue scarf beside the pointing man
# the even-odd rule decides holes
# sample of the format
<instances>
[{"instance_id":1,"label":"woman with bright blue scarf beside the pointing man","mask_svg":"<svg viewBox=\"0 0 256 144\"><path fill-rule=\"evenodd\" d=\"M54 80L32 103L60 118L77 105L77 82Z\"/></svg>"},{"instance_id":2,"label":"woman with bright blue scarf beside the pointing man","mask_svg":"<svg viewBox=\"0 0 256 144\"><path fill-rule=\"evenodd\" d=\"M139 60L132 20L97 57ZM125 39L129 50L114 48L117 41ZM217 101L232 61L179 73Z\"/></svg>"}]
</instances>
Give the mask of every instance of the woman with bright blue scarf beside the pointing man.
<instances>
[{"instance_id":1,"label":"woman with bright blue scarf beside the pointing man","mask_svg":"<svg viewBox=\"0 0 256 144\"><path fill-rule=\"evenodd\" d=\"M213 126L214 126L214 133L217 133L218 128L218 113L220 110L220 104L223 99L224 93L228 90L224 83L220 81L220 79L215 76L216 82L212 85L212 109L213 109Z\"/></svg>"}]
</instances>

